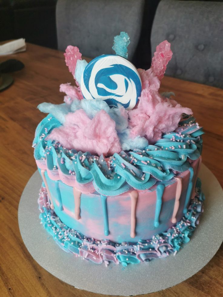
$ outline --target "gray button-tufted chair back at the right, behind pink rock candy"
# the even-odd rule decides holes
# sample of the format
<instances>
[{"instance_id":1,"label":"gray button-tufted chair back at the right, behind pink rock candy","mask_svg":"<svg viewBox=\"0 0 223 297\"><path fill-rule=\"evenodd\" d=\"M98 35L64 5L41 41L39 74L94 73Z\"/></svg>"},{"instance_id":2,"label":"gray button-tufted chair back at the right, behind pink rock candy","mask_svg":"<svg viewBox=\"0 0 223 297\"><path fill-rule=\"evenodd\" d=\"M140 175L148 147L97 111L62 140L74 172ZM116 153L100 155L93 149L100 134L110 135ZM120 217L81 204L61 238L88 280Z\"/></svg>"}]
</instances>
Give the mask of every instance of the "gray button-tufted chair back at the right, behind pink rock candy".
<instances>
[{"instance_id":1,"label":"gray button-tufted chair back at the right, behind pink rock candy","mask_svg":"<svg viewBox=\"0 0 223 297\"><path fill-rule=\"evenodd\" d=\"M166 74L223 88L223 3L162 0L151 32L151 49L167 39L173 57Z\"/></svg>"}]
</instances>

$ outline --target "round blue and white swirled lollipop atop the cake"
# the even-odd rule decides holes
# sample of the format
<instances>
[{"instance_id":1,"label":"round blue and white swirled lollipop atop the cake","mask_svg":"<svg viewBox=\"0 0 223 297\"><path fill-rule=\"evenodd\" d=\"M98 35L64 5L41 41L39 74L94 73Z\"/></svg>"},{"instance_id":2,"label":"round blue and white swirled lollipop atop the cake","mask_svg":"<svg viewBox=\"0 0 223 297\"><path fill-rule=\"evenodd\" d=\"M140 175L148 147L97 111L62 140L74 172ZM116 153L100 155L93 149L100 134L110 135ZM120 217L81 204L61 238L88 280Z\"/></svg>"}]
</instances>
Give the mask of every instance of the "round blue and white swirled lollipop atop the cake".
<instances>
[{"instance_id":1,"label":"round blue and white swirled lollipop atop the cake","mask_svg":"<svg viewBox=\"0 0 223 297\"><path fill-rule=\"evenodd\" d=\"M141 79L135 66L118 55L101 55L85 68L81 91L86 99L102 99L110 107L121 104L130 110L141 94Z\"/></svg>"}]
</instances>

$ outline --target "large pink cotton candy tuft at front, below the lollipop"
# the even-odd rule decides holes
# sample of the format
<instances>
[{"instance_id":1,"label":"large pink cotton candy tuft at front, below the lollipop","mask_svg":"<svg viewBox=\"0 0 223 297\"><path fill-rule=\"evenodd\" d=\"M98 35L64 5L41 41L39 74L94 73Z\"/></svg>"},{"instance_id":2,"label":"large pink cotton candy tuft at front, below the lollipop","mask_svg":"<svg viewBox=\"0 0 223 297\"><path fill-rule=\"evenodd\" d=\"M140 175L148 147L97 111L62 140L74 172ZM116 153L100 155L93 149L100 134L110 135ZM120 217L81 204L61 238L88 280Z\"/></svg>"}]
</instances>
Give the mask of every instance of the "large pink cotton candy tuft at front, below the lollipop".
<instances>
[{"instance_id":1,"label":"large pink cotton candy tuft at front, below the lollipop","mask_svg":"<svg viewBox=\"0 0 223 297\"><path fill-rule=\"evenodd\" d=\"M46 139L58 140L69 150L88 151L99 156L121 151L115 121L104 110L98 111L92 120L83 109L68 113L63 126L52 130Z\"/></svg>"}]
</instances>

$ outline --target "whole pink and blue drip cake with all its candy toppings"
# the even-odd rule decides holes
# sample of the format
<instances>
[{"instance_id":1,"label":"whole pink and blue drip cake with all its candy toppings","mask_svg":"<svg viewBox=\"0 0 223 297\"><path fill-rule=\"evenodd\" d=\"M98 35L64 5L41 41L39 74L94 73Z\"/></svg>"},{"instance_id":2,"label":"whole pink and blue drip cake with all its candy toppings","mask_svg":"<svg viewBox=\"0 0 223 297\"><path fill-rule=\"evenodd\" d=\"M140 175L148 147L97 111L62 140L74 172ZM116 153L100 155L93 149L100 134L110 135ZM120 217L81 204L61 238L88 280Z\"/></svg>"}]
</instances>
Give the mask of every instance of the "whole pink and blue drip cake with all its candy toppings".
<instances>
[{"instance_id":1,"label":"whole pink and blue drip cake with all its candy toppings","mask_svg":"<svg viewBox=\"0 0 223 297\"><path fill-rule=\"evenodd\" d=\"M58 245L107 266L176 254L199 223L198 173L203 129L173 93L159 94L172 52L163 41L148 70L127 60L128 34L116 54L90 63L68 46L76 86L64 103L42 103L34 157L42 177L40 219Z\"/></svg>"}]
</instances>

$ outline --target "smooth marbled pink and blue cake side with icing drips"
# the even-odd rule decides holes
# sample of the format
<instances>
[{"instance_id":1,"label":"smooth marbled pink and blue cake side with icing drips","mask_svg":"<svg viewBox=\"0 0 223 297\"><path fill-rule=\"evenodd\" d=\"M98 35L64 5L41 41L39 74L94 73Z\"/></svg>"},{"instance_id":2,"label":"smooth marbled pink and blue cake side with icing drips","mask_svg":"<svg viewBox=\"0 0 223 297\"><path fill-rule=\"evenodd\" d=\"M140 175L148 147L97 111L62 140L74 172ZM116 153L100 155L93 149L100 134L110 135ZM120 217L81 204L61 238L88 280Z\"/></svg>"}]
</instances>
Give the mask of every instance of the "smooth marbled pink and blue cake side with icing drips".
<instances>
[{"instance_id":1,"label":"smooth marbled pink and blue cake side with icing drips","mask_svg":"<svg viewBox=\"0 0 223 297\"><path fill-rule=\"evenodd\" d=\"M189 170L149 190L132 189L118 196L83 194L61 180L52 180L46 171L41 174L54 211L63 223L89 238L121 243L151 239L183 217L191 195L195 195L200 163L201 158L191 163Z\"/></svg>"}]
</instances>

